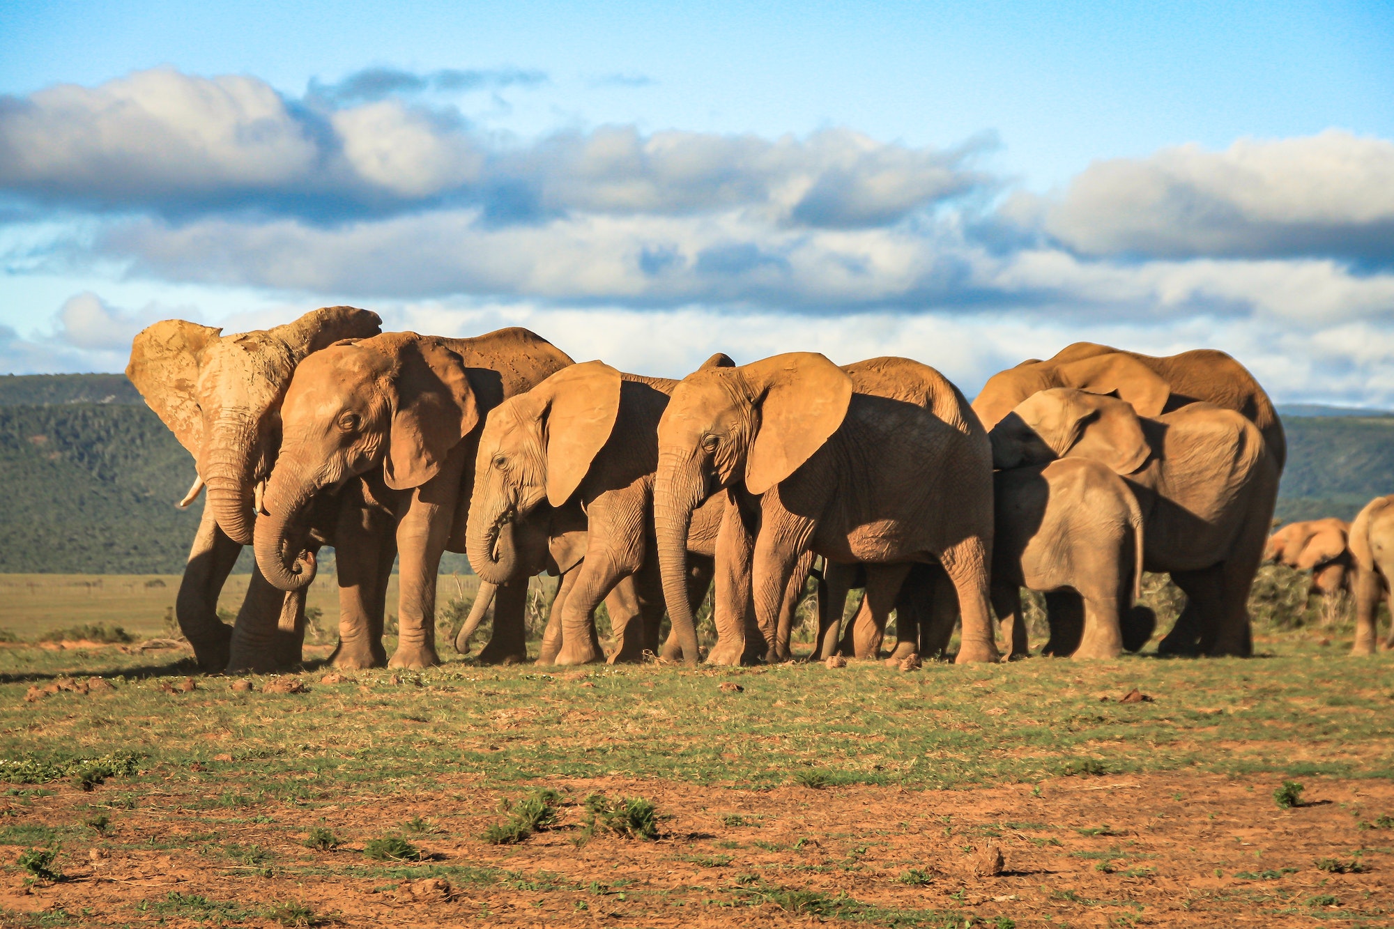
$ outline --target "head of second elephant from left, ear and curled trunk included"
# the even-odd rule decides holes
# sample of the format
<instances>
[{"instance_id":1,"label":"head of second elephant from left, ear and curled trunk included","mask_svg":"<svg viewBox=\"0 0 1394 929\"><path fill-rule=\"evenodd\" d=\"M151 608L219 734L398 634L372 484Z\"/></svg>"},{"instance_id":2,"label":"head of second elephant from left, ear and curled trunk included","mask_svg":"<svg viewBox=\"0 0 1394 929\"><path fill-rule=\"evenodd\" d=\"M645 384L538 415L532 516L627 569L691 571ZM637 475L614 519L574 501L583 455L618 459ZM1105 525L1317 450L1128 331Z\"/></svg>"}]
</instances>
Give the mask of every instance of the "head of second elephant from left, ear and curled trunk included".
<instances>
[{"instance_id":1,"label":"head of second elephant from left, ear and curled trunk included","mask_svg":"<svg viewBox=\"0 0 1394 929\"><path fill-rule=\"evenodd\" d=\"M315 575L305 551L315 494L382 467L392 490L421 487L480 421L464 360L414 332L344 340L296 370L282 403L280 455L256 520L256 565L298 590Z\"/></svg>"}]
</instances>

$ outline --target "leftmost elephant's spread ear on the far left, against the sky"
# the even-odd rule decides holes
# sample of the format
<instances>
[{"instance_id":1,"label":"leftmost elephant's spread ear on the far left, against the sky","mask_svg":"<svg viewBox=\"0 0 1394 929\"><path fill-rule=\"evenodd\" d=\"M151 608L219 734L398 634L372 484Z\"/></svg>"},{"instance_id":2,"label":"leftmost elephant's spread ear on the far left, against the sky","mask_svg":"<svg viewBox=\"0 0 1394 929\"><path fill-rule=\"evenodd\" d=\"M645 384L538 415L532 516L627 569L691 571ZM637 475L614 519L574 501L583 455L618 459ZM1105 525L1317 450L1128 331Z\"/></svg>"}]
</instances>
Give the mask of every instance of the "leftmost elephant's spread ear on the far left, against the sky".
<instances>
[{"instance_id":1,"label":"leftmost elephant's spread ear on the far left, against the sky","mask_svg":"<svg viewBox=\"0 0 1394 929\"><path fill-rule=\"evenodd\" d=\"M156 322L131 342L131 363L125 365L125 377L145 403L195 459L204 448L198 372L204 352L222 332L184 319Z\"/></svg>"}]
</instances>

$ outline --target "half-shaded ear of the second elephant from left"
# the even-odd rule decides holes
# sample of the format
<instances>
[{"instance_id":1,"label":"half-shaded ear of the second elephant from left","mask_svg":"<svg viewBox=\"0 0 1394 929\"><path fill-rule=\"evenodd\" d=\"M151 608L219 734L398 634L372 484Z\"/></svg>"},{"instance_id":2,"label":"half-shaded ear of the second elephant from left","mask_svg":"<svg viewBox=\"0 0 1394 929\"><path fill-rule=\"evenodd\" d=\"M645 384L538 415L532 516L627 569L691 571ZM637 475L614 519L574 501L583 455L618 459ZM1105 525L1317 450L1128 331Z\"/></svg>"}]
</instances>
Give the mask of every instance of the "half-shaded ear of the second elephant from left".
<instances>
[{"instance_id":1,"label":"half-shaded ear of the second elephant from left","mask_svg":"<svg viewBox=\"0 0 1394 929\"><path fill-rule=\"evenodd\" d=\"M393 490L421 487L480 421L464 360L438 339L404 333L386 346L396 354L390 382L392 434L383 478Z\"/></svg>"}]
</instances>

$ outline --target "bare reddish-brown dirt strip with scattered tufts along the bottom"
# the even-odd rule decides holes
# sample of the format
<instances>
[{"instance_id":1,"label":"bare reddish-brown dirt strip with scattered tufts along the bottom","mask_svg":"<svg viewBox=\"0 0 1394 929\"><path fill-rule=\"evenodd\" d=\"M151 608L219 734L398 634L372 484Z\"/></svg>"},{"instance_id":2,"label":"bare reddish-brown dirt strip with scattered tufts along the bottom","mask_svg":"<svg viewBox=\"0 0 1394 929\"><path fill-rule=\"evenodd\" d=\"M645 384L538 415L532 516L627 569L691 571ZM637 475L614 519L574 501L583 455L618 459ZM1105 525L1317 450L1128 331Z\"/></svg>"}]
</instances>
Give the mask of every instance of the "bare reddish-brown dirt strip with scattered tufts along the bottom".
<instances>
[{"instance_id":1,"label":"bare reddish-brown dirt strip with scattered tufts along the bottom","mask_svg":"<svg viewBox=\"0 0 1394 929\"><path fill-rule=\"evenodd\" d=\"M966 791L548 784L567 801L559 826L514 845L473 838L502 819L480 810L520 795L520 785L478 777L316 810L343 836L418 817L413 841L429 859L386 868L361 843L304 847L307 833L286 829L297 822L289 806L262 823L219 823L276 862L261 869L255 855L237 865L190 849L198 837L185 810L199 796L171 780L174 791L142 792L132 810L112 806L106 834L93 830L86 848L66 847L64 880L10 879L0 909L7 925L1394 925L1394 829L1369 824L1394 812L1394 785L1383 780L1308 780L1303 805L1289 810L1274 803L1270 780L1203 773ZM54 784L29 805L11 803L6 813L20 819L6 822L81 822L117 790ZM579 802L592 791L655 801L671 816L659 840L577 847ZM206 813L197 819L208 827ZM131 848L145 838L184 848ZM988 845L1002 854L998 876L974 873ZM1323 859L1363 870L1333 873Z\"/></svg>"}]
</instances>

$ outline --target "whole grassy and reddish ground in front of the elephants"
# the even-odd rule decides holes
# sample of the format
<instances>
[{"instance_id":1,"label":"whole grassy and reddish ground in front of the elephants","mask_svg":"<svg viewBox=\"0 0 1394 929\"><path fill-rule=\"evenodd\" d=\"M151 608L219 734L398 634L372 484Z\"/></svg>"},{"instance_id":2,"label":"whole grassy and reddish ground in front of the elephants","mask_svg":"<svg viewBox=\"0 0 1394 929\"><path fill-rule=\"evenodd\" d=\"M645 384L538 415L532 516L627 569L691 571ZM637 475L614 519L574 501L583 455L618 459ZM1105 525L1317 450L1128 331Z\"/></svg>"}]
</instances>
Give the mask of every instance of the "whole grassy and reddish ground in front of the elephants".
<instances>
[{"instance_id":1,"label":"whole grassy and reddish ground in front of the elephants","mask_svg":"<svg viewBox=\"0 0 1394 929\"><path fill-rule=\"evenodd\" d=\"M1391 925L1394 654L1262 615L1248 660L912 672L446 649L335 679L318 646L300 693L185 692L178 650L6 646L0 923ZM60 675L113 686L25 700ZM538 788L553 827L482 838ZM659 838L580 841L591 794L654 801ZM973 870L988 845L1001 875Z\"/></svg>"}]
</instances>

